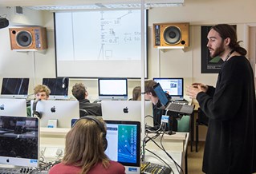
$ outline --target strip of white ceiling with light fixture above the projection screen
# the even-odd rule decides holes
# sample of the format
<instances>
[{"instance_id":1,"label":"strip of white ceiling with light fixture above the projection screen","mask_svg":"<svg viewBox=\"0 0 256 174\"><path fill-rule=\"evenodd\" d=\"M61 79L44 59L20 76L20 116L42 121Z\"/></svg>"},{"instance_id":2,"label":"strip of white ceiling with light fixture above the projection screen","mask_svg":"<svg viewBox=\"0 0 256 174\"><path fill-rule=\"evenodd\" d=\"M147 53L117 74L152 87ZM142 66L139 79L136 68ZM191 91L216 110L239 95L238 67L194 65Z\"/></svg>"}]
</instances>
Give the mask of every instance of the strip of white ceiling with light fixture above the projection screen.
<instances>
[{"instance_id":1,"label":"strip of white ceiling with light fixture above the projection screen","mask_svg":"<svg viewBox=\"0 0 256 174\"><path fill-rule=\"evenodd\" d=\"M0 6L22 6L35 10L102 10L140 8L139 0L0 0ZM184 0L144 0L145 8L183 6Z\"/></svg>"}]
</instances>

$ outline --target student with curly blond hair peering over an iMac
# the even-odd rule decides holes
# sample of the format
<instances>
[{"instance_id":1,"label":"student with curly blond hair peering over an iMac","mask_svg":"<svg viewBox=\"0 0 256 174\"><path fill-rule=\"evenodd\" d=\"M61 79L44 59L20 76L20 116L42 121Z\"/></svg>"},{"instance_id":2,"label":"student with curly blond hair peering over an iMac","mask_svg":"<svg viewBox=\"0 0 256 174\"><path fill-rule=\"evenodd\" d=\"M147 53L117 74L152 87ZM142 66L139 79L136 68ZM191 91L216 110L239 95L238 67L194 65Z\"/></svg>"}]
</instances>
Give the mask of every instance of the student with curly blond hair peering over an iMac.
<instances>
[{"instance_id":1,"label":"student with curly blond hair peering over an iMac","mask_svg":"<svg viewBox=\"0 0 256 174\"><path fill-rule=\"evenodd\" d=\"M50 93L47 85L36 85L34 88L35 100L48 100ZM31 117L31 106L26 107L26 116Z\"/></svg>"}]
</instances>

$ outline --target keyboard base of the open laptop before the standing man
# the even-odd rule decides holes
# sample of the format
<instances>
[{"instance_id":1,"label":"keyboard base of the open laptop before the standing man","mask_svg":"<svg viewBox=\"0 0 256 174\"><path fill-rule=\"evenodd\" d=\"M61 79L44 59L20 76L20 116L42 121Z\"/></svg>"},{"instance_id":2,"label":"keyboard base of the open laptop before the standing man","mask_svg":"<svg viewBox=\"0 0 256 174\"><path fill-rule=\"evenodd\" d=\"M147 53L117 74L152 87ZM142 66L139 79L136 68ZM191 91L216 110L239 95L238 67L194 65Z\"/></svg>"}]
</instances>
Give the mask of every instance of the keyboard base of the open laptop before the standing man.
<instances>
[{"instance_id":1,"label":"keyboard base of the open laptop before the standing man","mask_svg":"<svg viewBox=\"0 0 256 174\"><path fill-rule=\"evenodd\" d=\"M177 112L177 113L191 114L191 113L193 113L194 107L195 107L195 105L183 105L183 104L177 104L177 103L169 103L169 105L167 105L166 109L173 111L173 112Z\"/></svg>"}]
</instances>

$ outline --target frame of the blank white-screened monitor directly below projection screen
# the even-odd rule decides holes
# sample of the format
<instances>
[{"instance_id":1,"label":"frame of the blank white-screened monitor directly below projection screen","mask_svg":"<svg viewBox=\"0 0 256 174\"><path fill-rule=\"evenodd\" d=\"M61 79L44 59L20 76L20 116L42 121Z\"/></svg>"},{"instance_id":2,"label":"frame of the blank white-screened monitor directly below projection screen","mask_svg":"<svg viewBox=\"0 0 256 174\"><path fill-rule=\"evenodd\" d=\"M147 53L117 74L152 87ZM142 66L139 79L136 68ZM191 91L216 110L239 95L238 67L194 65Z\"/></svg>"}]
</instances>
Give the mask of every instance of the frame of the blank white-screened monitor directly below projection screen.
<instances>
[{"instance_id":1,"label":"frame of the blank white-screened monitor directly below projection screen","mask_svg":"<svg viewBox=\"0 0 256 174\"><path fill-rule=\"evenodd\" d=\"M125 81L125 93L124 94L104 94L100 92L100 81ZM127 78L98 78L98 96L100 99L118 99L118 98L128 98L128 79Z\"/></svg>"}]
</instances>

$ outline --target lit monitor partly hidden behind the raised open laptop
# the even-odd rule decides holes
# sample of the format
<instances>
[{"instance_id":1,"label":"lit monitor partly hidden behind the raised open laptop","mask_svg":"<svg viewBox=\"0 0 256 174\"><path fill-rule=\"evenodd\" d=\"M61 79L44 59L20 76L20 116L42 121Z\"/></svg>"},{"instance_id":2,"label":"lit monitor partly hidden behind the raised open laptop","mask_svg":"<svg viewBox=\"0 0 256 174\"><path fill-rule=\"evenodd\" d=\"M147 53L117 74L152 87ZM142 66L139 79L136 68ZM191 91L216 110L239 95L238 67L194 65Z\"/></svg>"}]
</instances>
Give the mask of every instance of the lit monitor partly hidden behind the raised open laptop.
<instances>
[{"instance_id":1,"label":"lit monitor partly hidden behind the raised open laptop","mask_svg":"<svg viewBox=\"0 0 256 174\"><path fill-rule=\"evenodd\" d=\"M172 97L172 100L183 99L183 78L153 78L153 81L156 81L156 83L160 83L163 90L166 93L169 93L169 96Z\"/></svg>"}]
</instances>

